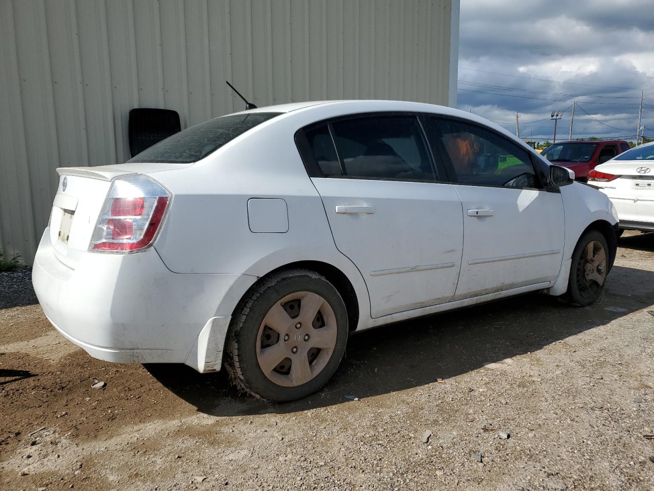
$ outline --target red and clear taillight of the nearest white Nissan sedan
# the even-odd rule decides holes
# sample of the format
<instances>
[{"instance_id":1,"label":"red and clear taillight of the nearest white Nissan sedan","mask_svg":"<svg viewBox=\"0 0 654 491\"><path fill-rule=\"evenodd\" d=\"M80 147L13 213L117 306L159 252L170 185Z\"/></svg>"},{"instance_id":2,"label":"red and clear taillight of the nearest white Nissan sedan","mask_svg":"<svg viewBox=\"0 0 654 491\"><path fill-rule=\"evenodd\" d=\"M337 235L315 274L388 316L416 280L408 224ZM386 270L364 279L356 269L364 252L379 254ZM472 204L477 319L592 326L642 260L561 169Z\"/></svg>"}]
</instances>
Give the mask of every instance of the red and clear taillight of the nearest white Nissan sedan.
<instances>
[{"instance_id":1,"label":"red and clear taillight of the nearest white Nissan sedan","mask_svg":"<svg viewBox=\"0 0 654 491\"><path fill-rule=\"evenodd\" d=\"M89 250L145 249L154 242L170 200L170 192L145 175L115 179L97 219Z\"/></svg>"}]
</instances>

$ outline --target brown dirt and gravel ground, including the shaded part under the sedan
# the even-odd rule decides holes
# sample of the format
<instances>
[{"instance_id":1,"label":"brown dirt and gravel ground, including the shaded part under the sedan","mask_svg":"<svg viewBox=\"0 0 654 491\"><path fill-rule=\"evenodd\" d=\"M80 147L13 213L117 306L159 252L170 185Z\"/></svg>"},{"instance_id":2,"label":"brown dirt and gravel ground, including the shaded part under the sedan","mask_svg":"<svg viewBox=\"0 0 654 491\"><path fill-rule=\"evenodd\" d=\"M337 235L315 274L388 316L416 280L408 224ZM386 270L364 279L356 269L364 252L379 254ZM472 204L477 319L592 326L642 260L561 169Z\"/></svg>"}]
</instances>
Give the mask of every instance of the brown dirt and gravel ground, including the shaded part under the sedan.
<instances>
[{"instance_id":1,"label":"brown dirt and gravel ground, including the shaded part under the sedan","mask_svg":"<svg viewBox=\"0 0 654 491\"><path fill-rule=\"evenodd\" d=\"M651 491L653 342L638 232L600 304L525 295L367 331L286 405L224 373L97 361L38 305L3 308L0 489Z\"/></svg>"}]
</instances>

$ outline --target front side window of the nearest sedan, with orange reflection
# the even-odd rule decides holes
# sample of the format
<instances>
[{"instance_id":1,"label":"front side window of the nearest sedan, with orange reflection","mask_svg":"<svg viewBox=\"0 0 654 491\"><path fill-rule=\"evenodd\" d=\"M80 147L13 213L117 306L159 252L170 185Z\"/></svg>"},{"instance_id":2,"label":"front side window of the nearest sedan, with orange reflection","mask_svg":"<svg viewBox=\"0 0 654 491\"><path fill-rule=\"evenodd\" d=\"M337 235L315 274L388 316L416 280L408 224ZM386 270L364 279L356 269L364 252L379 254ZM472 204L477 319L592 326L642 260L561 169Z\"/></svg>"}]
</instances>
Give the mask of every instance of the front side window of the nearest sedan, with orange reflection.
<instances>
[{"instance_id":1,"label":"front side window of the nearest sedan, with orange reflection","mask_svg":"<svg viewBox=\"0 0 654 491\"><path fill-rule=\"evenodd\" d=\"M430 119L430 131L459 183L539 187L529 154L508 139L473 124L441 118Z\"/></svg>"}]
</instances>

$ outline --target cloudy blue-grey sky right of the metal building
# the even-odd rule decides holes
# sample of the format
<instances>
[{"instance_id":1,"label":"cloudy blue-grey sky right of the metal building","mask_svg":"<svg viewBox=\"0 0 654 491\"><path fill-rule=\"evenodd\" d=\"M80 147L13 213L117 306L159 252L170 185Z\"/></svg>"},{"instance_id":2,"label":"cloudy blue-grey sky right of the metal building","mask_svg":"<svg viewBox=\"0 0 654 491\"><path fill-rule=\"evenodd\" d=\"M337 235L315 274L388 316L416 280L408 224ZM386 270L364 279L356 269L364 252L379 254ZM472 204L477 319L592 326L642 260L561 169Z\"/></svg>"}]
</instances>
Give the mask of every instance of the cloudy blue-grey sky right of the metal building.
<instances>
[{"instance_id":1,"label":"cloudy blue-grey sky right of the metal building","mask_svg":"<svg viewBox=\"0 0 654 491\"><path fill-rule=\"evenodd\" d=\"M458 107L520 136L654 137L652 0L461 0ZM494 73L490 73L494 72ZM501 94L501 95L500 95ZM544 120L543 120L544 118Z\"/></svg>"}]
</instances>

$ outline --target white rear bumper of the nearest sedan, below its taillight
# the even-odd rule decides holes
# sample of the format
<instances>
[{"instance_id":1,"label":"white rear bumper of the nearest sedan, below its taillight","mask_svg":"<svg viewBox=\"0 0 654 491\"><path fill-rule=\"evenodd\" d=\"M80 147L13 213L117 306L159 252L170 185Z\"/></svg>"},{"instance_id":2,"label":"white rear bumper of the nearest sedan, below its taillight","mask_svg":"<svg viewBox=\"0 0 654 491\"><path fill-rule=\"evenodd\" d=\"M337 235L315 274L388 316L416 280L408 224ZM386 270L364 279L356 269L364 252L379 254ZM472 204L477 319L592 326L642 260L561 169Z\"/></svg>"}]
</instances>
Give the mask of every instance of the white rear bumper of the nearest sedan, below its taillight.
<instances>
[{"instance_id":1,"label":"white rear bumper of the nearest sedan, below its taillight","mask_svg":"<svg viewBox=\"0 0 654 491\"><path fill-rule=\"evenodd\" d=\"M199 371L220 367L232 310L255 280L241 274L173 273L154 248L136 254L86 253L73 269L57 259L47 229L32 271L47 318L93 357L186 363Z\"/></svg>"}]
</instances>

